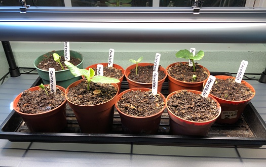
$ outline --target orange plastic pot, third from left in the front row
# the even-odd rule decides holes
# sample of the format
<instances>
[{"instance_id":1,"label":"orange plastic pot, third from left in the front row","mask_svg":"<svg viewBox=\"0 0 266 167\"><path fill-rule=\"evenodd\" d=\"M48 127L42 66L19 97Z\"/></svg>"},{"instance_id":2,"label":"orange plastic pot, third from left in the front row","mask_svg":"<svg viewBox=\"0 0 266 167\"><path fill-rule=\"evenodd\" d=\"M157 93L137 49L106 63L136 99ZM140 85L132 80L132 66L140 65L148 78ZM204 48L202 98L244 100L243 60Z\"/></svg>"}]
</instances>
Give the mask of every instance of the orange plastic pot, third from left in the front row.
<instances>
[{"instance_id":1,"label":"orange plastic pot, third from left in the front row","mask_svg":"<svg viewBox=\"0 0 266 167\"><path fill-rule=\"evenodd\" d=\"M127 134L156 134L158 132L160 121L161 121L161 116L162 116L162 113L164 112L166 105L160 112L154 115L146 116L146 117L137 117L137 116L127 115L121 110L119 110L118 108L117 103L125 93L129 91L137 91L137 90L140 90L141 92L151 91L151 89L148 89L148 88L128 89L118 95L117 102L115 103L115 106L121 118L123 131ZM160 94L161 97L164 99L164 102L166 102L164 95L162 95L160 92L158 92L158 94Z\"/></svg>"}]
</instances>

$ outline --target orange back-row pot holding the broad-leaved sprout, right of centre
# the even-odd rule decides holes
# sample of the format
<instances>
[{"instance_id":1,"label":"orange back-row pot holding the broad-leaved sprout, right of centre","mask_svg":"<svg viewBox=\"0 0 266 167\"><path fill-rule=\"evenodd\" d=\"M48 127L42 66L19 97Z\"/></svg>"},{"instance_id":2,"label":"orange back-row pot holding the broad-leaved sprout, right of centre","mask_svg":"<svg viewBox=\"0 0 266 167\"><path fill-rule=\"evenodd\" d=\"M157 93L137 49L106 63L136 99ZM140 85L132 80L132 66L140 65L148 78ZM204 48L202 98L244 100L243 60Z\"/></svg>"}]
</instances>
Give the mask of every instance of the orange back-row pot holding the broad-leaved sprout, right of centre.
<instances>
[{"instance_id":1,"label":"orange back-row pot holding the broad-leaved sprout, right of centre","mask_svg":"<svg viewBox=\"0 0 266 167\"><path fill-rule=\"evenodd\" d=\"M196 91L202 91L203 89L203 81L200 82L184 82L181 80L177 80L174 77L172 77L169 73L168 73L168 69L169 67L177 64L177 63L183 63L183 64L188 64L188 62L176 62L176 63L172 63L170 65L167 66L166 68L166 73L168 75L168 90L169 93L172 93L174 91L179 91L179 90L196 90ZM203 67L202 65L199 65L201 68L205 69L208 72L208 76L210 75L210 71ZM208 77L205 79L207 80Z\"/></svg>"}]
</instances>

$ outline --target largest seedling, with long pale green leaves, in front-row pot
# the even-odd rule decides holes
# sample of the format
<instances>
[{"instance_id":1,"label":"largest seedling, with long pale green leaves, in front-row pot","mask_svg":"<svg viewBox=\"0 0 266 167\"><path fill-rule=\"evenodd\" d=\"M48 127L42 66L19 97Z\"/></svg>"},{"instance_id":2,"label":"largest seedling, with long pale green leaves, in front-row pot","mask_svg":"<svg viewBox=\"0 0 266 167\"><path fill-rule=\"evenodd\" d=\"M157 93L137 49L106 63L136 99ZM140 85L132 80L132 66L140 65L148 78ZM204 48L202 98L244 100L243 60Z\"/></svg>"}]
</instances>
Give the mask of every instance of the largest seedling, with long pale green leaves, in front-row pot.
<instances>
[{"instance_id":1,"label":"largest seedling, with long pale green leaves, in front-row pot","mask_svg":"<svg viewBox=\"0 0 266 167\"><path fill-rule=\"evenodd\" d=\"M95 75L95 72L92 68L89 68L89 70L80 69L74 66L73 64L69 63L68 61L65 61L65 65L75 77L84 75L87 78L87 81L88 81L87 90L90 90L91 81L95 83L99 83L99 82L100 83L118 83L120 82L120 80L115 79L115 78Z\"/></svg>"}]
</instances>

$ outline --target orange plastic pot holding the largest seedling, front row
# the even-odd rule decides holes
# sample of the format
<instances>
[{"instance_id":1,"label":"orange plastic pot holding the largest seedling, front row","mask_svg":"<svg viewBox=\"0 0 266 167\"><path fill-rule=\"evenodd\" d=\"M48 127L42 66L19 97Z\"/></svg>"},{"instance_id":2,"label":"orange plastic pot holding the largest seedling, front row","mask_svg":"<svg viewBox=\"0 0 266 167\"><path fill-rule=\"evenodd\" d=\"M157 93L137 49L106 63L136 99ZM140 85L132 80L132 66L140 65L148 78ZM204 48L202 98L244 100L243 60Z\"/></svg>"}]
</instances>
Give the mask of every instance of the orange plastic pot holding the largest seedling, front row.
<instances>
[{"instance_id":1,"label":"orange plastic pot holding the largest seedling, front row","mask_svg":"<svg viewBox=\"0 0 266 167\"><path fill-rule=\"evenodd\" d=\"M113 112L115 110L115 102L117 100L118 93L109 101L101 104L90 106L74 104L68 100L67 94L70 88L79 85L82 80L83 79L75 81L67 87L65 91L67 102L73 109L82 133L107 133L112 129ZM112 85L118 89L117 84Z\"/></svg>"}]
</instances>

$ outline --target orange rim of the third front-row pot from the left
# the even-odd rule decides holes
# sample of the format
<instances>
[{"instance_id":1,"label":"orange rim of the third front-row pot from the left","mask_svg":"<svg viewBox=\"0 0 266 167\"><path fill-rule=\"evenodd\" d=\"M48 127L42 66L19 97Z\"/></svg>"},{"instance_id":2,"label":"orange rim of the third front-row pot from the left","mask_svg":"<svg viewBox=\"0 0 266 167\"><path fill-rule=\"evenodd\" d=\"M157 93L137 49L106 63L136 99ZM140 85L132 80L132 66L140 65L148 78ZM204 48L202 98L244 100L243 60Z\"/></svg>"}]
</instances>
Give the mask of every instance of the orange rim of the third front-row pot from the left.
<instances>
[{"instance_id":1,"label":"orange rim of the third front-row pot from the left","mask_svg":"<svg viewBox=\"0 0 266 167\"><path fill-rule=\"evenodd\" d=\"M118 109L117 102L120 100L121 96L124 95L125 93L129 92L129 91L136 91L136 90L140 90L140 91L143 90L142 92L148 92L148 91L151 91L151 89L149 89L149 88L131 88L131 89L128 89L128 90L125 90L125 91L121 92L121 93L118 95L117 101L116 101L116 103L115 103L115 107L117 108L117 110L118 110L119 113L121 113L121 114L123 114L123 115L125 115L125 116L128 116L128 117L131 117L131 118L145 119L145 118L150 118L150 117L154 117L154 116L160 115L160 114L162 114L162 113L164 112L164 110L165 110L165 108L166 108L166 98L165 98L165 96L164 96L162 93L160 93L160 92L158 92L158 91L157 91L157 94L160 94L161 97L164 99L164 108L163 108L162 110L160 110L158 113L156 113L156 114L154 114L154 115L138 117L138 116L131 116L131 115L125 114L124 112L120 111L120 110Z\"/></svg>"}]
</instances>

